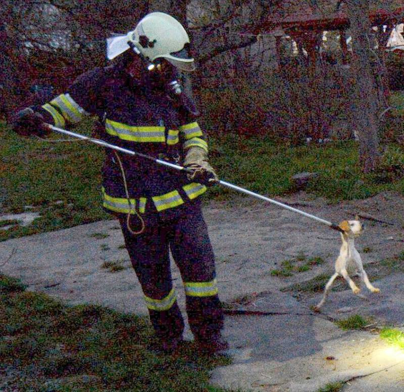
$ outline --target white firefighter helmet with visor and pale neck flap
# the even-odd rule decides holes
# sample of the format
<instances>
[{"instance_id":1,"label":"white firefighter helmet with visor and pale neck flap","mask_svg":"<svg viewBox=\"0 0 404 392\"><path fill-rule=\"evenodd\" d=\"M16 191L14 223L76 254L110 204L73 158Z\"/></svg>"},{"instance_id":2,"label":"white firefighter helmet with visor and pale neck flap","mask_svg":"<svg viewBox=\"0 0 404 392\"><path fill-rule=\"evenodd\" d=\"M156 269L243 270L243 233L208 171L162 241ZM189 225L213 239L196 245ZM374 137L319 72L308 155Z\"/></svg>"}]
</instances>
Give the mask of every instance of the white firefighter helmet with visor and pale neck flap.
<instances>
[{"instance_id":1,"label":"white firefighter helmet with visor and pale neck flap","mask_svg":"<svg viewBox=\"0 0 404 392\"><path fill-rule=\"evenodd\" d=\"M183 71L195 69L189 55L189 37L184 27L172 16L163 12L146 15L133 31L107 40L107 57L112 60L127 51L132 43L150 62L165 58Z\"/></svg>"}]
</instances>

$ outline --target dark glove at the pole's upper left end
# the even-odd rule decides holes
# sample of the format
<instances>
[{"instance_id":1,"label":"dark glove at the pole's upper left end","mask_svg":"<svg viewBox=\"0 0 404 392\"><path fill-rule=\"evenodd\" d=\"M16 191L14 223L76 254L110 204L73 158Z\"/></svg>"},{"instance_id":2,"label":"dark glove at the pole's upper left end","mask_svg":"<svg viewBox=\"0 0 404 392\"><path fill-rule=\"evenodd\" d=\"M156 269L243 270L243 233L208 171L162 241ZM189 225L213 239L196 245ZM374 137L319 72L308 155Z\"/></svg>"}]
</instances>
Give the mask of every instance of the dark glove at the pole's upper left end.
<instances>
[{"instance_id":1,"label":"dark glove at the pole's upper left end","mask_svg":"<svg viewBox=\"0 0 404 392\"><path fill-rule=\"evenodd\" d=\"M51 132L43 116L31 108L20 110L13 118L12 127L21 136L45 136Z\"/></svg>"}]
</instances>

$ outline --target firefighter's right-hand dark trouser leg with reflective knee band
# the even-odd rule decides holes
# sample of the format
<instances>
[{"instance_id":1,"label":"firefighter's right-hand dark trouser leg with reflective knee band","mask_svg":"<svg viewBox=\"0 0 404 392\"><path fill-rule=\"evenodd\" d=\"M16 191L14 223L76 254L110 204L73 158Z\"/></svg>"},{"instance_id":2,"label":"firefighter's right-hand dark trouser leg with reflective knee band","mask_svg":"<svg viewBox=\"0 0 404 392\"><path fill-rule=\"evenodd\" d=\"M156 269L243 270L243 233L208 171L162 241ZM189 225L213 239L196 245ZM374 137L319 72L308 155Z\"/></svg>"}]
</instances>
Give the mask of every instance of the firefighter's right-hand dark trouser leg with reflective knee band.
<instances>
[{"instance_id":1,"label":"firefighter's right-hand dark trouser leg with reflective knee band","mask_svg":"<svg viewBox=\"0 0 404 392\"><path fill-rule=\"evenodd\" d=\"M215 257L199 207L193 207L177 221L170 247L184 282L191 331L196 338L209 338L223 328L223 312Z\"/></svg>"}]
</instances>

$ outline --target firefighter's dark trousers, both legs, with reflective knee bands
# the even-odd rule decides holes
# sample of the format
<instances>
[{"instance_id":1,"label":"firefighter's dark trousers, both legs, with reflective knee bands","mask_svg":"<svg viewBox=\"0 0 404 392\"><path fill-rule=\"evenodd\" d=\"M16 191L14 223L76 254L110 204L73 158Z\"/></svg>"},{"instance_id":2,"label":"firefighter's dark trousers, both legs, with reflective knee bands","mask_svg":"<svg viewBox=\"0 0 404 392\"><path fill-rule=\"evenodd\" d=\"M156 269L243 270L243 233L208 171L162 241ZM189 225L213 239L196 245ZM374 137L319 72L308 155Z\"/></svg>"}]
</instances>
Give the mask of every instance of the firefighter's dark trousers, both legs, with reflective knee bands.
<instances>
[{"instance_id":1,"label":"firefighter's dark trousers, both legs, with reflective knee bands","mask_svg":"<svg viewBox=\"0 0 404 392\"><path fill-rule=\"evenodd\" d=\"M181 272L186 312L195 339L209 340L223 327L215 259L199 207L172 221L131 234L120 219L133 268L142 286L150 321L162 339L180 338L184 321L172 284L169 249Z\"/></svg>"}]
</instances>

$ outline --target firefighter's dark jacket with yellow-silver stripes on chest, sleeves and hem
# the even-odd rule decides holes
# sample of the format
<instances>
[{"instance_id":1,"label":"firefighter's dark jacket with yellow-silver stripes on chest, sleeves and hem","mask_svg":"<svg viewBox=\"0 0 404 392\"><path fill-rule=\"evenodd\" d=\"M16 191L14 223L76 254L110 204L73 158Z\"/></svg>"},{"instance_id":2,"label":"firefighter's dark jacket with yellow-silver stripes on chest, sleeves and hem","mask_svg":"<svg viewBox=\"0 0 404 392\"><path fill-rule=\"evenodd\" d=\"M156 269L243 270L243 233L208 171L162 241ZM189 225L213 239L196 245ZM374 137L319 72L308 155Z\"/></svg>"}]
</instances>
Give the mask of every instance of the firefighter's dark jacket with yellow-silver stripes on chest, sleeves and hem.
<instances>
[{"instance_id":1,"label":"firefighter's dark jacket with yellow-silver stripes on chest, sleeves and hem","mask_svg":"<svg viewBox=\"0 0 404 392\"><path fill-rule=\"evenodd\" d=\"M43 105L43 110L62 128L66 121L75 123L83 115L95 114L105 123L104 139L156 158L176 158L194 145L208 150L197 122L185 123L186 119L180 119L166 94L136 83L116 68L97 68L82 75L66 93ZM121 159L130 184L131 202L141 213L172 215L168 210L206 191L204 185L189 182L185 173L127 155ZM103 177L104 207L128 213L123 182L117 181L122 174L111 151L107 152Z\"/></svg>"}]
</instances>

